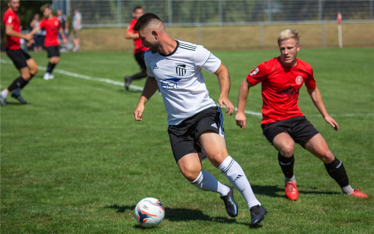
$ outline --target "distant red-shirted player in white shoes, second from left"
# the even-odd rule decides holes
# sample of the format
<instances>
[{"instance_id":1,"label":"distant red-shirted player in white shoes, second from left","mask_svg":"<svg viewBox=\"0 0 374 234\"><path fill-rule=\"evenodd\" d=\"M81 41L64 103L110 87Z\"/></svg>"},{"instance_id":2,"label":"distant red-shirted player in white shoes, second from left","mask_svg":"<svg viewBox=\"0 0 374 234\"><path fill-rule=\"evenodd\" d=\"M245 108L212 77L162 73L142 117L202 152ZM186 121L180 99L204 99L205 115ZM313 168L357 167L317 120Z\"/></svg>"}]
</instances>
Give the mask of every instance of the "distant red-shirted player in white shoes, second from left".
<instances>
[{"instance_id":1,"label":"distant red-shirted player in white shoes, second from left","mask_svg":"<svg viewBox=\"0 0 374 234\"><path fill-rule=\"evenodd\" d=\"M49 80L55 78L52 75L52 70L60 61L59 53L59 43L58 43L58 31L62 35L62 40L64 40L65 45L67 45L67 40L64 35L64 31L60 25L60 21L56 16L53 16L52 10L49 8L48 4L40 7L40 11L43 12L43 15L46 17L38 27L33 28L30 32L31 34L37 33L41 28L46 30L46 37L44 39L44 47L48 52L49 63L47 65L47 72L44 74L43 79Z\"/></svg>"}]
</instances>

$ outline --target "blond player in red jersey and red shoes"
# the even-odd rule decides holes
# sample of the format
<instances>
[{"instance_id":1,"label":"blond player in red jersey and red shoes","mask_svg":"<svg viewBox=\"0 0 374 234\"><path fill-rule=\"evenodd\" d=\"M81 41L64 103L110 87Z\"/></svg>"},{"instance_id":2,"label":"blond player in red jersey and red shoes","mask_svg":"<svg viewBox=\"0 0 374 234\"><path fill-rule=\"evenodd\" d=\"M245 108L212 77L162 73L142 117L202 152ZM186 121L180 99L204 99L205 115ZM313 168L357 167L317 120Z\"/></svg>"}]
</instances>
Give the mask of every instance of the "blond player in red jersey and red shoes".
<instances>
[{"instance_id":1,"label":"blond player in red jersey and red shoes","mask_svg":"<svg viewBox=\"0 0 374 234\"><path fill-rule=\"evenodd\" d=\"M244 108L249 88L262 82L263 134L279 151L278 161L285 175L285 193L297 200L298 190L294 176L295 142L324 162L328 174L339 184L344 194L368 197L359 189L353 189L343 163L335 158L316 128L305 118L298 107L299 89L305 83L313 103L325 121L337 131L339 125L327 113L322 95L316 86L312 67L297 59L300 50L298 31L284 30L278 36L281 55L261 63L240 84L236 124L245 130Z\"/></svg>"}]
</instances>

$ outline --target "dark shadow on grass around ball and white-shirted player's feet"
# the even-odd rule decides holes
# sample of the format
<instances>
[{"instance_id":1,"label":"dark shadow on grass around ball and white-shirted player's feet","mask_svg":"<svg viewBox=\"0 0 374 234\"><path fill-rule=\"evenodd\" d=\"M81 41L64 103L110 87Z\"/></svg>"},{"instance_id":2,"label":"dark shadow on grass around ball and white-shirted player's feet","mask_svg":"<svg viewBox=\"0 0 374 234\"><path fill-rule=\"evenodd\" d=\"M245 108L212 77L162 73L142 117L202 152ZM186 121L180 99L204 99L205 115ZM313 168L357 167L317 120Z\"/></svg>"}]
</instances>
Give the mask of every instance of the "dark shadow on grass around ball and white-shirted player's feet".
<instances>
[{"instance_id":1,"label":"dark shadow on grass around ball and white-shirted player's feet","mask_svg":"<svg viewBox=\"0 0 374 234\"><path fill-rule=\"evenodd\" d=\"M126 210L134 210L135 206L119 206L117 204L106 206L106 209L116 209L117 212L123 213ZM261 225L257 225L252 227L250 223L247 222L237 222L235 219L230 219L226 217L211 217L205 215L201 210L192 210L192 209L174 209L165 207L165 219L172 221L172 222L180 222L180 221L208 221L208 222L217 222L221 224L242 224L246 225L250 228L259 228ZM135 225L134 228L142 228L139 225Z\"/></svg>"}]
</instances>

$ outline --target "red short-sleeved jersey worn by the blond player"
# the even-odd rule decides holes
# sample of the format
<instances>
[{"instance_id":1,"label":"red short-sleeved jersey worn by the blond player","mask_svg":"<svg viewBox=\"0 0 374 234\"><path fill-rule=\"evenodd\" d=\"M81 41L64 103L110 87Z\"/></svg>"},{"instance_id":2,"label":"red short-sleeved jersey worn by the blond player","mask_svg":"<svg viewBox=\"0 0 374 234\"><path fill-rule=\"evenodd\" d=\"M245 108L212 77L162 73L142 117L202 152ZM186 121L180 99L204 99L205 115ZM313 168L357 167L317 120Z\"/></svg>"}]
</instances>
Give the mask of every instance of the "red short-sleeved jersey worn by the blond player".
<instances>
[{"instance_id":1,"label":"red short-sleeved jersey worn by the blond player","mask_svg":"<svg viewBox=\"0 0 374 234\"><path fill-rule=\"evenodd\" d=\"M298 107L299 90L303 83L308 89L316 87L313 69L303 60L296 59L295 67L286 67L281 59L273 58L261 63L247 76L248 82L262 82L261 124L277 122L296 116L304 116Z\"/></svg>"}]
</instances>

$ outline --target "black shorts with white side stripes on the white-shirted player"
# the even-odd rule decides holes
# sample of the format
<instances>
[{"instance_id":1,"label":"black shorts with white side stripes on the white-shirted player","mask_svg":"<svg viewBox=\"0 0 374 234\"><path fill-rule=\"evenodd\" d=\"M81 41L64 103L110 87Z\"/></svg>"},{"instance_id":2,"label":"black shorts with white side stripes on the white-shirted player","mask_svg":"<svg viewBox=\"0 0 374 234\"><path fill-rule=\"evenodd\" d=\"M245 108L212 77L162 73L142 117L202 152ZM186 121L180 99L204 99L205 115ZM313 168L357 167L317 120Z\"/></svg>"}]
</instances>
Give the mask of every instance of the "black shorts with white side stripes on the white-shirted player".
<instances>
[{"instance_id":1,"label":"black shorts with white side stripes on the white-shirted player","mask_svg":"<svg viewBox=\"0 0 374 234\"><path fill-rule=\"evenodd\" d=\"M175 161L178 162L186 154L202 152L197 137L209 130L224 137L221 107L202 110L179 125L169 125L168 133Z\"/></svg>"}]
</instances>

